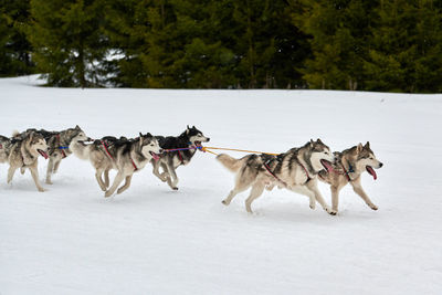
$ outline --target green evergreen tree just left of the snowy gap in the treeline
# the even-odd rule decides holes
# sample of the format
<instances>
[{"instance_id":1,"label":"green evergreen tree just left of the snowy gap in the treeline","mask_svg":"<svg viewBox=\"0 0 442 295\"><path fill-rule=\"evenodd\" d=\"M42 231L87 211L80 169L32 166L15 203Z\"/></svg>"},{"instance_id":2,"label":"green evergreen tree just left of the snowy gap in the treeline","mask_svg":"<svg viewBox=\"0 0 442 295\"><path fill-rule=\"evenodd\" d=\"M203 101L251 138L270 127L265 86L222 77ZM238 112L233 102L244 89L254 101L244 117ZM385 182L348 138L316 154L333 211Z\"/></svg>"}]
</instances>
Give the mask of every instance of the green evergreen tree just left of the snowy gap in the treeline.
<instances>
[{"instance_id":1,"label":"green evergreen tree just left of the snowy gap in the treeline","mask_svg":"<svg viewBox=\"0 0 442 295\"><path fill-rule=\"evenodd\" d=\"M102 0L31 0L34 60L51 86L99 86L106 55Z\"/></svg>"}]
</instances>

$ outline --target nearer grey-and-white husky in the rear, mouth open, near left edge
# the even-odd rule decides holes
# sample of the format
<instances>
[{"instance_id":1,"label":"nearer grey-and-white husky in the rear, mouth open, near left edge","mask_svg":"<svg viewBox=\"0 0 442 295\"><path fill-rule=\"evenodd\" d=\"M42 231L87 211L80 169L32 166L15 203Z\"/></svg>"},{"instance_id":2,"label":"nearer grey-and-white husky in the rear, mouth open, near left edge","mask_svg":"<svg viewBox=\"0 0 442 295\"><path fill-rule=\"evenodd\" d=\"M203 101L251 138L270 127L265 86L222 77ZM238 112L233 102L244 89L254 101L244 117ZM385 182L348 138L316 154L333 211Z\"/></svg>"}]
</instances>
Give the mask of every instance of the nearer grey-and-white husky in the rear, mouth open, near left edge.
<instances>
[{"instance_id":1,"label":"nearer grey-and-white husky in the rear, mouth open, near left edge","mask_svg":"<svg viewBox=\"0 0 442 295\"><path fill-rule=\"evenodd\" d=\"M38 133L30 131L22 138L17 139L18 134L14 134L14 140L11 140L11 146L8 155L9 170L8 183L12 181L17 169L21 168L22 173L28 168L31 171L35 186L39 191L44 191L39 180L38 158L39 155L48 159L48 145L44 137Z\"/></svg>"}]
</instances>

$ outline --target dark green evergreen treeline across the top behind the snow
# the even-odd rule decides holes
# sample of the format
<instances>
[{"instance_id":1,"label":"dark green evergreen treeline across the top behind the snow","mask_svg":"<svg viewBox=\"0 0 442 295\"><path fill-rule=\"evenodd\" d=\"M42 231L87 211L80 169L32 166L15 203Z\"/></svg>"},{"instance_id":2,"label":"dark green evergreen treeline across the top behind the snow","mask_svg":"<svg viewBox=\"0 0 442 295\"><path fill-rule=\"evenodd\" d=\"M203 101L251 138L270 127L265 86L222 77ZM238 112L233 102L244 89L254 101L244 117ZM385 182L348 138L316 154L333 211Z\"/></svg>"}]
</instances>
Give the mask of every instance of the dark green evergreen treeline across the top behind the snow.
<instances>
[{"instance_id":1,"label":"dark green evergreen treeline across the top behind the snow","mask_svg":"<svg viewBox=\"0 0 442 295\"><path fill-rule=\"evenodd\" d=\"M442 1L0 0L0 76L51 86L442 91Z\"/></svg>"}]
</instances>

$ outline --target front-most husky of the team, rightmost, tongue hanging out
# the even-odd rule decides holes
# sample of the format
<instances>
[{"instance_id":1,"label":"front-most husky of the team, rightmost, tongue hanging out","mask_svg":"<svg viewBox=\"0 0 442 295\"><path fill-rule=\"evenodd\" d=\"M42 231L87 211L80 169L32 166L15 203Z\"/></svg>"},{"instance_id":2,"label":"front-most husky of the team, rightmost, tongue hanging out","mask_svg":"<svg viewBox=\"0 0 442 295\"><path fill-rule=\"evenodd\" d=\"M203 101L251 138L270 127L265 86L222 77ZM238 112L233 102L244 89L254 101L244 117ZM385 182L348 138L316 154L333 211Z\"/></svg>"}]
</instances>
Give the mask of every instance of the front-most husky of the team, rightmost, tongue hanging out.
<instances>
[{"instance_id":1,"label":"front-most husky of the team, rightmost, tongue hanging out","mask_svg":"<svg viewBox=\"0 0 442 295\"><path fill-rule=\"evenodd\" d=\"M378 207L371 202L360 183L360 176L364 171L367 171L376 180L378 177L373 168L379 169L383 166L382 162L376 159L375 154L370 149L370 143L367 141L365 146L359 144L341 152L335 151L334 155L334 172L319 172L319 180L330 185L332 209L336 212L338 211L339 191L347 183L350 183L354 191L362 198L368 207L372 210L378 210Z\"/></svg>"}]
</instances>

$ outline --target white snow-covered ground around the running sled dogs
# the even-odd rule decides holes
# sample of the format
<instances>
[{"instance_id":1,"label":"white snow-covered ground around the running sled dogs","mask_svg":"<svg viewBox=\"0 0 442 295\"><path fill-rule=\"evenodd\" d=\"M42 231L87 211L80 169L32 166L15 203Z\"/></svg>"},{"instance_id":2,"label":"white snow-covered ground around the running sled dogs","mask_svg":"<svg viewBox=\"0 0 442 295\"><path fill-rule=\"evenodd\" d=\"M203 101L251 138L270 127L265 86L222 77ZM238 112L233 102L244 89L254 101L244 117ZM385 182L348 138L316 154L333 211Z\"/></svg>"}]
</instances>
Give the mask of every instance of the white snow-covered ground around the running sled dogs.
<instances>
[{"instance_id":1,"label":"white snow-covered ground around the running sled dogs","mask_svg":"<svg viewBox=\"0 0 442 295\"><path fill-rule=\"evenodd\" d=\"M0 294L442 294L442 95L322 91L36 87L0 80L0 134L78 124L88 136L178 135L211 146L285 151L311 138L334 150L370 140L385 164L340 212L286 190L221 204L233 176L210 154L178 169L179 190L136 173L103 197L92 166L64 160L49 191L0 166ZM243 154L232 152L234 156ZM40 159L43 180L46 162ZM320 190L327 202L330 194Z\"/></svg>"}]
</instances>

